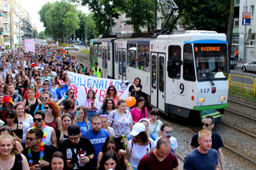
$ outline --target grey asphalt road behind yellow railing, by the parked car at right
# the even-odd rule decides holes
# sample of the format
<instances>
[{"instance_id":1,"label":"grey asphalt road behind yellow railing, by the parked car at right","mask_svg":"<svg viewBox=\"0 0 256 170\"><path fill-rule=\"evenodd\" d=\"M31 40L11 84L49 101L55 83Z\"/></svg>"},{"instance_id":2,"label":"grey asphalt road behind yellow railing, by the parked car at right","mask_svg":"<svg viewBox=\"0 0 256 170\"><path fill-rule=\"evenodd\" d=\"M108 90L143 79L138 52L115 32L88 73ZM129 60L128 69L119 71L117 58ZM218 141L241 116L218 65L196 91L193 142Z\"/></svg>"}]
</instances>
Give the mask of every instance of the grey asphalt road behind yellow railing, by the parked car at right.
<instances>
[{"instance_id":1,"label":"grey asphalt road behind yellow railing, by the parked car at right","mask_svg":"<svg viewBox=\"0 0 256 170\"><path fill-rule=\"evenodd\" d=\"M240 69L238 67L235 67L234 69L230 69L230 74L231 74L231 76L234 75L234 76L231 77L231 81L236 81L236 82L242 82L243 81L243 83L246 83L246 84L249 84L249 85L254 84L253 81L250 78L243 78L243 80L242 80L242 77L235 76L235 75L242 76L242 69ZM252 77L255 81L256 72L255 73L254 72L245 72L244 76Z\"/></svg>"}]
</instances>

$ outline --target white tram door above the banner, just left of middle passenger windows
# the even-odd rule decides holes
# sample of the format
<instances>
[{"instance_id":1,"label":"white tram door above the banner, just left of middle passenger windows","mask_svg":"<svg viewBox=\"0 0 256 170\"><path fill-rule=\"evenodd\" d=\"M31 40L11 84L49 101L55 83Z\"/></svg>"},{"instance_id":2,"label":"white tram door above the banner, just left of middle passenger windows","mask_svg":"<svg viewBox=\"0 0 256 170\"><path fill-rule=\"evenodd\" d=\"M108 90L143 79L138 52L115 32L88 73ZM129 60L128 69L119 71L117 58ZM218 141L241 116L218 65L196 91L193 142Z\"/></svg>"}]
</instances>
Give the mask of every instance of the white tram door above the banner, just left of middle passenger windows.
<instances>
[{"instance_id":1,"label":"white tram door above the banner, just left of middle passenger windows","mask_svg":"<svg viewBox=\"0 0 256 170\"><path fill-rule=\"evenodd\" d=\"M126 49L119 49L118 55L118 79L126 81Z\"/></svg>"}]
</instances>

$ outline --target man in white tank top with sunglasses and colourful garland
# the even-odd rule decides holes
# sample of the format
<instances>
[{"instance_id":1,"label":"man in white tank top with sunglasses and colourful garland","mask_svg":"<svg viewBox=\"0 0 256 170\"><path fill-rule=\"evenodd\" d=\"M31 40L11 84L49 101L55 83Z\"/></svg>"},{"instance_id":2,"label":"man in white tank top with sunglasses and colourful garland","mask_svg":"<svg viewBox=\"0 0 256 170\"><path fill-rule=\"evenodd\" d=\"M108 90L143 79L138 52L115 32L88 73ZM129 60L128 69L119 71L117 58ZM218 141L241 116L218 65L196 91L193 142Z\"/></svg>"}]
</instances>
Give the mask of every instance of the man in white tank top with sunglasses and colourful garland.
<instances>
[{"instance_id":1,"label":"man in white tank top with sunglasses and colourful garland","mask_svg":"<svg viewBox=\"0 0 256 170\"><path fill-rule=\"evenodd\" d=\"M57 148L57 137L56 133L54 131L54 128L47 126L44 124L46 121L46 113L42 112L42 110L38 110L36 113L34 113L34 127L27 129L26 136L28 136L28 132L30 132L30 129L33 128L39 128L44 132L45 137L42 139L42 142L44 142L47 145L52 145L55 148ZM27 143L26 143L27 146Z\"/></svg>"}]
</instances>

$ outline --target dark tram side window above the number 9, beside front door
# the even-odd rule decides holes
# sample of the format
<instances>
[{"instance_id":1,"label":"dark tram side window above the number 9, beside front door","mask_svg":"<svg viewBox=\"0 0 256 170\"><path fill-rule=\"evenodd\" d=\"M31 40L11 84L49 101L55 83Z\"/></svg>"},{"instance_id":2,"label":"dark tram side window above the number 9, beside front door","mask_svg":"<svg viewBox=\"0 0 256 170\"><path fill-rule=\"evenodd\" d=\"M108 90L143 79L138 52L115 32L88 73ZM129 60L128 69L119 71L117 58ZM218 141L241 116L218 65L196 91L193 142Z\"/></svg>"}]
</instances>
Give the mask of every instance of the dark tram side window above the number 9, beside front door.
<instances>
[{"instance_id":1,"label":"dark tram side window above the number 9, beside front door","mask_svg":"<svg viewBox=\"0 0 256 170\"><path fill-rule=\"evenodd\" d=\"M180 79L181 77L181 47L179 45L169 46L169 57L167 61L168 77Z\"/></svg>"}]
</instances>

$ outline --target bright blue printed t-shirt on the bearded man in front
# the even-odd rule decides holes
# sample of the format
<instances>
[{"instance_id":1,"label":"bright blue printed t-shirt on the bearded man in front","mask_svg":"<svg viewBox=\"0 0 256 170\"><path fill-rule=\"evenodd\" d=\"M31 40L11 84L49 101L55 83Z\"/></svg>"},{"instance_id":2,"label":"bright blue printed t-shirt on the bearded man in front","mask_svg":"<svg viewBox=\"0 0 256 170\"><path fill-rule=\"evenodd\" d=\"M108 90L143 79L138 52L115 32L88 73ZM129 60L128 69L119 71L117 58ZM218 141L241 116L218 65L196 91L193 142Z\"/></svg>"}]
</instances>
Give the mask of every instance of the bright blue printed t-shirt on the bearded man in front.
<instances>
[{"instance_id":1,"label":"bright blue printed t-shirt on the bearded man in front","mask_svg":"<svg viewBox=\"0 0 256 170\"><path fill-rule=\"evenodd\" d=\"M94 159L91 160L91 167L97 167L98 153L102 151L102 146L105 143L106 137L110 136L104 128L101 128L99 132L94 132L91 128L82 133L82 137L90 139L91 144L94 146Z\"/></svg>"}]
</instances>

